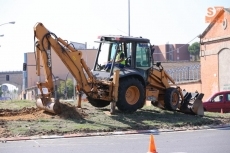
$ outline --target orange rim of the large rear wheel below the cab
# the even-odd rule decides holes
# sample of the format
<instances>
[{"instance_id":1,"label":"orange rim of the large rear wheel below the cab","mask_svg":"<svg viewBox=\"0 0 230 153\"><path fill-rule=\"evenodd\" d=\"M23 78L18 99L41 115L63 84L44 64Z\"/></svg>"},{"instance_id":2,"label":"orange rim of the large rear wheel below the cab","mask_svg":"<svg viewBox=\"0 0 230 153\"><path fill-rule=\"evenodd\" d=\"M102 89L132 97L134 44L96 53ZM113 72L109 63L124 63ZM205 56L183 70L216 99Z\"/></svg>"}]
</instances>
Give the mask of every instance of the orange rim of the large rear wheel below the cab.
<instances>
[{"instance_id":1,"label":"orange rim of the large rear wheel below the cab","mask_svg":"<svg viewBox=\"0 0 230 153\"><path fill-rule=\"evenodd\" d=\"M134 105L137 103L140 97L140 91L136 86L130 86L125 94L125 98L128 104Z\"/></svg>"}]
</instances>

